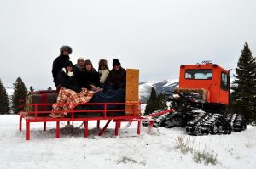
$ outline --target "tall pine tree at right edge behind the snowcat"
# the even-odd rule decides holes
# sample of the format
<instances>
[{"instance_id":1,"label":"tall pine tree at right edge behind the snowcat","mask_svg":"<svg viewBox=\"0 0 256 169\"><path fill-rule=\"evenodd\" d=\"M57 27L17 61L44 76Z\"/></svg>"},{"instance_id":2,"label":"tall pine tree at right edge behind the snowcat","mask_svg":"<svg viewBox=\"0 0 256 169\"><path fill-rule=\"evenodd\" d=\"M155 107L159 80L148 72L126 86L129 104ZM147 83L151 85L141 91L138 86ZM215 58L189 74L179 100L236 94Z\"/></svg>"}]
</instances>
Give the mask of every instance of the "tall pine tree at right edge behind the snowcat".
<instances>
[{"instance_id":1,"label":"tall pine tree at right edge behind the snowcat","mask_svg":"<svg viewBox=\"0 0 256 169\"><path fill-rule=\"evenodd\" d=\"M236 87L232 87L234 92L231 93L233 110L245 115L247 122L251 123L255 121L256 115L256 61L247 42L241 51L234 76Z\"/></svg>"}]
</instances>

